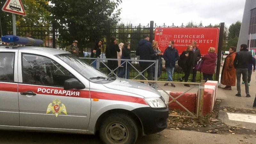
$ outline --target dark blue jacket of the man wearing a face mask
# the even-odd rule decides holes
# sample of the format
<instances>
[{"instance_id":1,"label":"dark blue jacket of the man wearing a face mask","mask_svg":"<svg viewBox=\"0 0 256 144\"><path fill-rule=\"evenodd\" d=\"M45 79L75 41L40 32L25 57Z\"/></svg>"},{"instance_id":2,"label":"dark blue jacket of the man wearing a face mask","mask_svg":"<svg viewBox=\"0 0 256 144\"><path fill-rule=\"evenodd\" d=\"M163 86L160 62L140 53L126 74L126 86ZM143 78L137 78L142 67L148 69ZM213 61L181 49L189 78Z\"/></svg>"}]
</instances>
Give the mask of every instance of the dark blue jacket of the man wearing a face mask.
<instances>
[{"instance_id":1,"label":"dark blue jacket of the man wearing a face mask","mask_svg":"<svg viewBox=\"0 0 256 144\"><path fill-rule=\"evenodd\" d=\"M170 67L174 68L175 67L175 62L179 60L179 53L178 50L173 47L167 47L164 50L164 55L163 58L165 60L165 67Z\"/></svg>"}]
</instances>

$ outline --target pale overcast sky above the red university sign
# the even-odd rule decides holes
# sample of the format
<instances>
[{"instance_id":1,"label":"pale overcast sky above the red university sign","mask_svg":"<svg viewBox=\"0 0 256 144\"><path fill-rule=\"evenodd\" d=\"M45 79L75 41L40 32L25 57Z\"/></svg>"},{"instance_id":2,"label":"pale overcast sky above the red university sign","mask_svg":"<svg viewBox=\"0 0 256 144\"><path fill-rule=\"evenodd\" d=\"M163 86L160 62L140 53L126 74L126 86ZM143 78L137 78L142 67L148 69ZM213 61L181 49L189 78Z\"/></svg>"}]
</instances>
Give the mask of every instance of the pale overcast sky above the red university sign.
<instances>
[{"instance_id":1,"label":"pale overcast sky above the red university sign","mask_svg":"<svg viewBox=\"0 0 256 144\"><path fill-rule=\"evenodd\" d=\"M245 0L122 0L121 22L134 26L186 25L193 21L203 26L222 22L229 27L242 22Z\"/></svg>"}]
</instances>

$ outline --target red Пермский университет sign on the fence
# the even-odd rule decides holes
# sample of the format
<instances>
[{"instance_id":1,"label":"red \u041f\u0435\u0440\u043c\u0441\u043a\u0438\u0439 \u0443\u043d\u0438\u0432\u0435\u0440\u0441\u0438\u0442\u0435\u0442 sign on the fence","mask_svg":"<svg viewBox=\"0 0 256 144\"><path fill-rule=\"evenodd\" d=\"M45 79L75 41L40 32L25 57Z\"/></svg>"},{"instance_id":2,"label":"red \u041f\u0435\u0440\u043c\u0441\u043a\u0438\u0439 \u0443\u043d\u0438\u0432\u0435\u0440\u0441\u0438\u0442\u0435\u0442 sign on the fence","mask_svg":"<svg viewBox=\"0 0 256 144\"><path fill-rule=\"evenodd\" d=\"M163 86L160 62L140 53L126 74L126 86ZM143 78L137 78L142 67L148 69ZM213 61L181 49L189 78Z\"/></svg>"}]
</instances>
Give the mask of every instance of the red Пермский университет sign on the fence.
<instances>
[{"instance_id":1,"label":"red \u041f\u0435\u0440\u043c\u0441\u043a\u0438\u0439 \u0443\u043d\u0438\u0432\u0435\u0440\u0441\u0438\u0442\u0435\u0442 sign on the fence","mask_svg":"<svg viewBox=\"0 0 256 144\"><path fill-rule=\"evenodd\" d=\"M196 47L200 49L202 55L208 53L209 47L215 47L217 54L219 28L156 28L155 41L158 41L159 48L164 52L168 47L168 42L174 40L174 47L179 54L196 41Z\"/></svg>"}]
</instances>

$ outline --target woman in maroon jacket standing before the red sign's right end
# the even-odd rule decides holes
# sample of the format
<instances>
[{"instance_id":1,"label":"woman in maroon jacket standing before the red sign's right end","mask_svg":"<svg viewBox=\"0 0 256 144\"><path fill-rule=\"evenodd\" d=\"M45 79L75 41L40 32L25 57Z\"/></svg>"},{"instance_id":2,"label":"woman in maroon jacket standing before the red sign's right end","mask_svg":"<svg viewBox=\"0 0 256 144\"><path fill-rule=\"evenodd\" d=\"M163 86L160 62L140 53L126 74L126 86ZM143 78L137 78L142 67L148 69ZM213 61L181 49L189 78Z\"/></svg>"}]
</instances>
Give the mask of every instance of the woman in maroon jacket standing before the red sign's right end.
<instances>
[{"instance_id":1,"label":"woman in maroon jacket standing before the red sign's right end","mask_svg":"<svg viewBox=\"0 0 256 144\"><path fill-rule=\"evenodd\" d=\"M215 48L210 47L208 49L208 54L205 54L204 57L202 57L202 60L204 61L202 65L201 72L203 73L203 77L205 82L208 80L213 80L212 75L215 72L215 66L216 66L216 60L217 55L215 54Z\"/></svg>"}]
</instances>

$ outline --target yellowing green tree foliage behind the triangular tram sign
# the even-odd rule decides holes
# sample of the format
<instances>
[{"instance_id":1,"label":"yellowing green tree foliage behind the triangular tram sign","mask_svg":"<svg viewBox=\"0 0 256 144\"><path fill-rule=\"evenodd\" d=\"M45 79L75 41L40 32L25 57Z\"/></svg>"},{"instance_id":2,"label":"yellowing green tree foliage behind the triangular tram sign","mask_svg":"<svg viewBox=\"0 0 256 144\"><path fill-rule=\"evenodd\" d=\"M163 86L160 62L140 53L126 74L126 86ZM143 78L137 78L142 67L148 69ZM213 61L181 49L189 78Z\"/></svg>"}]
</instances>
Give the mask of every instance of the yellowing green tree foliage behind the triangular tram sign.
<instances>
[{"instance_id":1,"label":"yellowing green tree foliage behind the triangular tram sign","mask_svg":"<svg viewBox=\"0 0 256 144\"><path fill-rule=\"evenodd\" d=\"M4 2L1 1L0 7L3 7L3 5ZM15 15L17 35L25 36L27 33L31 33L32 35L37 35L37 39L44 41L46 38L49 39L47 35L51 34L52 17L48 0L23 0L22 5L26 16ZM0 18L3 35L12 34L12 13L1 12Z\"/></svg>"}]
</instances>

